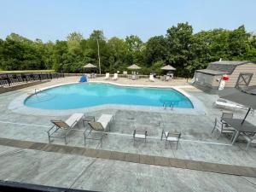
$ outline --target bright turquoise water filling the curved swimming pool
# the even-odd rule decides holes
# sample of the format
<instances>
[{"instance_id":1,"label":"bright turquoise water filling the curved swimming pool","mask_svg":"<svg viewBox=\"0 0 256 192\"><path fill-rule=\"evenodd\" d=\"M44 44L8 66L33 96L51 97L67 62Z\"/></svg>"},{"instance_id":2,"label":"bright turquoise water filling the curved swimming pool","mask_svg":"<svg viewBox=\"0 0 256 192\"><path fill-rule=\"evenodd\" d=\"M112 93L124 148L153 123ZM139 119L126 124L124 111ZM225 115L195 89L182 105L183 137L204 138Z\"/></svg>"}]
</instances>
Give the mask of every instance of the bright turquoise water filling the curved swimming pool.
<instances>
[{"instance_id":1,"label":"bright turquoise water filling the curved swimming pool","mask_svg":"<svg viewBox=\"0 0 256 192\"><path fill-rule=\"evenodd\" d=\"M122 104L174 108L193 108L189 98L173 89L125 87L113 84L67 84L29 96L25 105L43 109L86 108L102 104ZM169 105L169 104L168 104Z\"/></svg>"}]
</instances>

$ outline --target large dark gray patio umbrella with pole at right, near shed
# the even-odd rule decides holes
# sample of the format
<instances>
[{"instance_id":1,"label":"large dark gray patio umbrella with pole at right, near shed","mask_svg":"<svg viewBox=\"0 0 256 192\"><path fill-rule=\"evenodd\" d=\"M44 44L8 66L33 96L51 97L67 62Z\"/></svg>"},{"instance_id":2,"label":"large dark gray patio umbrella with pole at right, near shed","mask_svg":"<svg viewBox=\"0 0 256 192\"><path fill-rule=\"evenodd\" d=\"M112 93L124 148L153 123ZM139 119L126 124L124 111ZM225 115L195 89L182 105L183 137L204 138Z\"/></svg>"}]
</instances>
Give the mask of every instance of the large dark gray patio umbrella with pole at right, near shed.
<instances>
[{"instance_id":1,"label":"large dark gray patio umbrella with pole at right, near shed","mask_svg":"<svg viewBox=\"0 0 256 192\"><path fill-rule=\"evenodd\" d=\"M218 91L218 96L231 102L247 106L248 111L241 124L243 124L247 118L251 108L256 109L256 86L247 87L242 90L238 90L236 88L220 90Z\"/></svg>"}]
</instances>

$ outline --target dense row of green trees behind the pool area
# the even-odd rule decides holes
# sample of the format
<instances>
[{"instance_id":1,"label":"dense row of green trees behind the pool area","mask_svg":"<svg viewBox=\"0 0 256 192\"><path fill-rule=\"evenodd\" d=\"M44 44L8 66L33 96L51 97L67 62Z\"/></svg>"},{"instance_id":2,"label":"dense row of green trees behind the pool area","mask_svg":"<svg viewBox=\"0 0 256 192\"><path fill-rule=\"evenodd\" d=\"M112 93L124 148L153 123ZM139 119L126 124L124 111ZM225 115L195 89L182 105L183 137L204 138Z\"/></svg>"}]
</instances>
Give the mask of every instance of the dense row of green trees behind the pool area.
<instances>
[{"instance_id":1,"label":"dense row of green trees behind the pool area","mask_svg":"<svg viewBox=\"0 0 256 192\"><path fill-rule=\"evenodd\" d=\"M245 26L235 30L213 29L194 33L189 23L178 23L165 35L143 42L136 35L106 39L100 30L89 38L72 32L67 40L44 43L11 33L0 38L0 68L2 70L54 69L62 73L80 73L87 63L98 65L97 41L100 47L102 73L127 71L137 64L139 73L162 73L166 64L177 68L177 76L193 75L196 69L211 61L256 61L256 36Z\"/></svg>"}]
</instances>

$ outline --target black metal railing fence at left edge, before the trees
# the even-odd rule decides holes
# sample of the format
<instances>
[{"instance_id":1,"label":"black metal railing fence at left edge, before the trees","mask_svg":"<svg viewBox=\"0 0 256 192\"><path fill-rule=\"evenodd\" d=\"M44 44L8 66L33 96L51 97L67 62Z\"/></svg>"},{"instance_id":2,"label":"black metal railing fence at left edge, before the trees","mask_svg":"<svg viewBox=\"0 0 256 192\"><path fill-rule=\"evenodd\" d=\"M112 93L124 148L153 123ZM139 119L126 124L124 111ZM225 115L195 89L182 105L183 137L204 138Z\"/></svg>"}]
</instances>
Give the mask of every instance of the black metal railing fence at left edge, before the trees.
<instances>
[{"instance_id":1,"label":"black metal railing fence at left edge, before the trees","mask_svg":"<svg viewBox=\"0 0 256 192\"><path fill-rule=\"evenodd\" d=\"M58 78L64 73L0 73L0 87Z\"/></svg>"}]
</instances>

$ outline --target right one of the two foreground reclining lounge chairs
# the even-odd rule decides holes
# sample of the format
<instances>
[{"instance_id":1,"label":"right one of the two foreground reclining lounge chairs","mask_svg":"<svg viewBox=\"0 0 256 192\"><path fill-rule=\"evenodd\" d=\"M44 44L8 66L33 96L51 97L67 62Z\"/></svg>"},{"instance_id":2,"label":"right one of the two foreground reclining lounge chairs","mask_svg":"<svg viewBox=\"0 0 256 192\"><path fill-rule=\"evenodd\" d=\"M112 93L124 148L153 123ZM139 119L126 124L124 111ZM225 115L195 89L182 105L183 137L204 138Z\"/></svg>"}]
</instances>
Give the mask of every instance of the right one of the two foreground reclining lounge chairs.
<instances>
[{"instance_id":1,"label":"right one of the two foreground reclining lounge chairs","mask_svg":"<svg viewBox=\"0 0 256 192\"><path fill-rule=\"evenodd\" d=\"M102 138L104 136L104 132L110 131L110 123L113 121L113 114L102 114L102 116L97 119L97 121L88 121L89 128L84 131L84 145L86 143L86 139L94 139L100 140L102 143ZM100 137L90 137L91 131L100 132Z\"/></svg>"}]
</instances>

